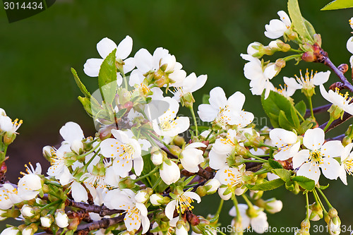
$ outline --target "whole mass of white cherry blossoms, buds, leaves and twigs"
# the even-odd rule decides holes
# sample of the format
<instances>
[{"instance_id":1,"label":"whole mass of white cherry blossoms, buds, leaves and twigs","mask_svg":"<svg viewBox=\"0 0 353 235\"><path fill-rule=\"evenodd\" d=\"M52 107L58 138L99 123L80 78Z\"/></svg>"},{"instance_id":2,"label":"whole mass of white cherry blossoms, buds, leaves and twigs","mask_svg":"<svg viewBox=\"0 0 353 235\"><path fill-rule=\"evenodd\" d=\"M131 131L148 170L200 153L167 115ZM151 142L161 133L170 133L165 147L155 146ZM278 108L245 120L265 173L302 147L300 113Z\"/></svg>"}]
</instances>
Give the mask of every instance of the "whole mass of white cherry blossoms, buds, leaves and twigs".
<instances>
[{"instance_id":1,"label":"whole mass of white cherry blossoms, buds, leaves and twigs","mask_svg":"<svg viewBox=\"0 0 353 235\"><path fill-rule=\"evenodd\" d=\"M323 62L333 68L321 49L319 35L303 35L285 11L278 15L280 20L265 25L265 36L275 41L266 47L253 42L248 54L241 54L249 61L244 76L251 80L253 95L262 95L272 129L256 126L253 114L243 109L244 94L234 92L227 98L219 87L210 90L208 102L198 106L204 124L199 126L193 92L205 85L207 76L187 75L175 56L161 47L152 54L140 49L130 56L133 40L128 36L118 45L102 39L97 44L102 58L86 61L83 71L97 77L100 88L92 95L72 69L85 96L78 99L95 121L97 133L85 137L77 123L66 123L59 130L61 145L43 147L51 167L42 174L40 164L35 168L26 165L27 173L22 173L17 186L5 179L6 150L22 121L11 121L0 109L0 217L23 222L4 229L1 235L32 235L39 229L68 235L90 231L215 234L224 200L234 203L229 215L234 217L237 234L249 226L262 234L269 228L268 214L282 210L282 201L263 199L264 191L282 185L306 197L306 218L296 234L309 234L309 220L322 218L330 234L340 234L340 218L323 193L327 186L320 185L320 176L322 172L325 178L340 178L347 185L347 174L353 174L353 126L338 138L325 139L325 131L353 115L352 98L340 93L340 89L353 91L353 86L346 79L327 92L323 84L330 71L306 71L284 77L285 89L275 88L271 80L291 59ZM279 37L299 48L292 49ZM349 51L351 42L347 43ZM275 63L260 60L275 52L295 54ZM344 70L334 71L344 76ZM332 103L315 109L330 113L329 121L321 126L311 103L316 86ZM292 99L296 90L308 99L308 110L305 102L296 104ZM178 116L182 107L190 110L192 121ZM186 131L191 138L184 137ZM309 193L315 199L311 205ZM196 203L212 194L220 197L217 212L208 217L193 214ZM239 199L244 203L238 203Z\"/></svg>"}]
</instances>

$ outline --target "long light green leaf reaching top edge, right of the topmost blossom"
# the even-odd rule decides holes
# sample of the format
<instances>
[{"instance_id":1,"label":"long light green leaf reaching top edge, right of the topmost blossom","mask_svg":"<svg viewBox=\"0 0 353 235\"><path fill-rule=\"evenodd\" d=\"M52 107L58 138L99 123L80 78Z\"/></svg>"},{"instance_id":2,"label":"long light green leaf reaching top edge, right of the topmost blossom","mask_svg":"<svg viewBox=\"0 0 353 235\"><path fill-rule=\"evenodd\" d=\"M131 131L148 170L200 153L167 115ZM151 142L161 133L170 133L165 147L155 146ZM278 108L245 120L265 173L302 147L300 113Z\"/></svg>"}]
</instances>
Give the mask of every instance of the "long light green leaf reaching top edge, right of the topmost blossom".
<instances>
[{"instance_id":1,"label":"long light green leaf reaching top edge, right of the topmost blossom","mask_svg":"<svg viewBox=\"0 0 353 235\"><path fill-rule=\"evenodd\" d=\"M313 42L313 37L311 37L312 35L304 23L304 18L301 16L298 0L288 0L288 13L299 35Z\"/></svg>"}]
</instances>

